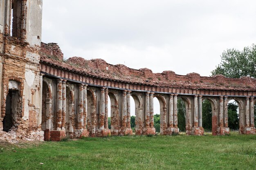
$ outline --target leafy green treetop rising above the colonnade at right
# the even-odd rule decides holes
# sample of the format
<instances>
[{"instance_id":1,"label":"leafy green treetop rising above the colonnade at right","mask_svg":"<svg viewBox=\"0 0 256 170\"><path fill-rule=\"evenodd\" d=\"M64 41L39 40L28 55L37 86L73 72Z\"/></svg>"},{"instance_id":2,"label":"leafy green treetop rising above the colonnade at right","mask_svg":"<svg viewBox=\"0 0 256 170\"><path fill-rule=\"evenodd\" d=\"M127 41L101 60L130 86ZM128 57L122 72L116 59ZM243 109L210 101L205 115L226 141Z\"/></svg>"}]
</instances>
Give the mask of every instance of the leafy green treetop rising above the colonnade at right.
<instances>
[{"instance_id":1,"label":"leafy green treetop rising above the colonnade at right","mask_svg":"<svg viewBox=\"0 0 256 170\"><path fill-rule=\"evenodd\" d=\"M250 76L256 78L256 45L245 47L242 51L227 49L221 56L221 63L211 72L230 78Z\"/></svg>"}]
</instances>

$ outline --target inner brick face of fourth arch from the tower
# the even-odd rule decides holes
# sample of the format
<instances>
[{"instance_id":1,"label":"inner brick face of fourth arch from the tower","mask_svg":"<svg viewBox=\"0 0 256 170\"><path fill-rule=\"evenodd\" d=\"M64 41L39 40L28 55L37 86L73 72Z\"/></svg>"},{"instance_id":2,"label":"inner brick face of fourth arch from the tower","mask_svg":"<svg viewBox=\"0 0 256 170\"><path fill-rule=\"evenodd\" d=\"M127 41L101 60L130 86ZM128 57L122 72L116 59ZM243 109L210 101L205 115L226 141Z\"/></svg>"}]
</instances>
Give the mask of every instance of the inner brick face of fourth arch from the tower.
<instances>
[{"instance_id":1,"label":"inner brick face of fourth arch from the tower","mask_svg":"<svg viewBox=\"0 0 256 170\"><path fill-rule=\"evenodd\" d=\"M108 96L110 98L110 124L111 124L111 135L118 135L119 130L119 102L117 94L112 92L111 90L108 92Z\"/></svg>"}]
</instances>

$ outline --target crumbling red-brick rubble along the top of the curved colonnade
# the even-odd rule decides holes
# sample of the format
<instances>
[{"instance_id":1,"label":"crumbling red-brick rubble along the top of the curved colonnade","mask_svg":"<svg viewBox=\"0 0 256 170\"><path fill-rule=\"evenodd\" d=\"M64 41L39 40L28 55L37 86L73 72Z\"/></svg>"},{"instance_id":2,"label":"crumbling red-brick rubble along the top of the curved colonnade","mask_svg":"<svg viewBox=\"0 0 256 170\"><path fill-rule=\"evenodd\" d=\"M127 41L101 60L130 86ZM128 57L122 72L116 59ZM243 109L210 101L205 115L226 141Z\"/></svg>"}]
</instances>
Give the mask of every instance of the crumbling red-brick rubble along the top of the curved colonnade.
<instances>
[{"instance_id":1,"label":"crumbling red-brick rubble along the top of the curved colonnade","mask_svg":"<svg viewBox=\"0 0 256 170\"><path fill-rule=\"evenodd\" d=\"M204 89L256 89L256 79L245 78L226 78L223 75L212 77L200 76L198 73L178 75L173 71L153 73L148 68L139 70L128 68L126 65L112 65L103 59L86 60L82 57L71 57L63 61L63 53L55 43L44 44L41 46L41 61L52 63L67 70L83 72L89 76L97 76L117 81L128 81L131 83L144 83L161 86L182 86Z\"/></svg>"}]
</instances>

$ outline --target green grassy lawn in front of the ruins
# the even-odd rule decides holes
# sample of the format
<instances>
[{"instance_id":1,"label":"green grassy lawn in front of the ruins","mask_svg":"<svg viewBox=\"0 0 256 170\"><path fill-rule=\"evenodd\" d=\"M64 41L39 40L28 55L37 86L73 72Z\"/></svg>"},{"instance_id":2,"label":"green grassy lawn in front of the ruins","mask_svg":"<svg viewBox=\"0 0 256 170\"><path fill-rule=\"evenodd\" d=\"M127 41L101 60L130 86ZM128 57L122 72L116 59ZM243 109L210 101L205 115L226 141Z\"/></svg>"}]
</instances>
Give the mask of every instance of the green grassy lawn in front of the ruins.
<instances>
[{"instance_id":1,"label":"green grassy lawn in front of the ruins","mask_svg":"<svg viewBox=\"0 0 256 170\"><path fill-rule=\"evenodd\" d=\"M0 143L0 169L256 169L256 135Z\"/></svg>"}]
</instances>

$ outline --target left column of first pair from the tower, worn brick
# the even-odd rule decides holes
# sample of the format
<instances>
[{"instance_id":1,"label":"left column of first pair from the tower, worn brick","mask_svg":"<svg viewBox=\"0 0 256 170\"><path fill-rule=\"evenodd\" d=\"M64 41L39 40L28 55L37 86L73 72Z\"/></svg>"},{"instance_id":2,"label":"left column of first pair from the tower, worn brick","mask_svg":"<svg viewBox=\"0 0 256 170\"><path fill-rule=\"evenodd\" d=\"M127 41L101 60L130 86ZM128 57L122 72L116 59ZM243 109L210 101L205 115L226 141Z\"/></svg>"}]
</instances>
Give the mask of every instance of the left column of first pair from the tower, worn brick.
<instances>
[{"instance_id":1,"label":"left column of first pair from the tower, worn brick","mask_svg":"<svg viewBox=\"0 0 256 170\"><path fill-rule=\"evenodd\" d=\"M56 120L55 120L55 127L57 131L61 130L61 121L62 121L62 81L63 79L57 80Z\"/></svg>"}]
</instances>

